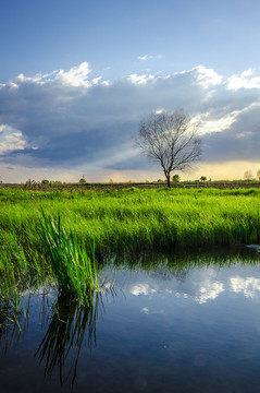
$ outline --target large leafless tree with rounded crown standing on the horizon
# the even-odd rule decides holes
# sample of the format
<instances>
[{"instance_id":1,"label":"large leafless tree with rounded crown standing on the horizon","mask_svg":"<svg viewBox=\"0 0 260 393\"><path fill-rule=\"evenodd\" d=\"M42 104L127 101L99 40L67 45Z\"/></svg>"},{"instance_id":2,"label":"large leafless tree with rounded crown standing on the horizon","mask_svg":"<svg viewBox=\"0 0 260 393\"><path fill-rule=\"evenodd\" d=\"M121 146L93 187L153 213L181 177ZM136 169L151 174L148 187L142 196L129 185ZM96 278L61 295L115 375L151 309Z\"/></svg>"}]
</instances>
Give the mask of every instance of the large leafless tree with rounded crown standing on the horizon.
<instances>
[{"instance_id":1,"label":"large leafless tree with rounded crown standing on the horizon","mask_svg":"<svg viewBox=\"0 0 260 393\"><path fill-rule=\"evenodd\" d=\"M171 187L171 172L185 170L201 157L198 129L183 110L150 114L141 120L135 145L158 160Z\"/></svg>"}]
</instances>

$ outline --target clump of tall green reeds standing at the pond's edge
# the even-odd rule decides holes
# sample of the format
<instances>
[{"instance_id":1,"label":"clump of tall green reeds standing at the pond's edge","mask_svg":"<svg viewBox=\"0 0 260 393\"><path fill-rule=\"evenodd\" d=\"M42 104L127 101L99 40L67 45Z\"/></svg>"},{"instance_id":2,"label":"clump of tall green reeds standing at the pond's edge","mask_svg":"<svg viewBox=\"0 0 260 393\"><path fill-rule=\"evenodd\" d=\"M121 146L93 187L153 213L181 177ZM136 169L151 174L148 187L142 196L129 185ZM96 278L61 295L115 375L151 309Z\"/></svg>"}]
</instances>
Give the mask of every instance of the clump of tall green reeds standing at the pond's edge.
<instances>
[{"instance_id":1,"label":"clump of tall green reeds standing at the pond's edge","mask_svg":"<svg viewBox=\"0 0 260 393\"><path fill-rule=\"evenodd\" d=\"M42 213L37 231L50 257L59 290L89 306L94 290L98 289L95 242L89 241L87 253L76 235L72 230L67 234L61 226L60 215L55 224L51 216Z\"/></svg>"}]
</instances>

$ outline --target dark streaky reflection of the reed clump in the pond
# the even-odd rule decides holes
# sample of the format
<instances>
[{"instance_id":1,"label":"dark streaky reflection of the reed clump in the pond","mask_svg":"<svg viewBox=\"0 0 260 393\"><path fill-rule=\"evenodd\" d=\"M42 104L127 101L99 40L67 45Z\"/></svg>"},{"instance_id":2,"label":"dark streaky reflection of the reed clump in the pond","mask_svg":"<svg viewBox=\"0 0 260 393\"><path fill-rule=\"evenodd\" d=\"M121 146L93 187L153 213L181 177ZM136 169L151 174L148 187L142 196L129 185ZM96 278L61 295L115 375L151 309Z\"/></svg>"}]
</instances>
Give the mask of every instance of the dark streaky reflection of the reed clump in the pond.
<instances>
[{"instance_id":1,"label":"dark streaky reflection of the reed clump in the pond","mask_svg":"<svg viewBox=\"0 0 260 393\"><path fill-rule=\"evenodd\" d=\"M111 293L114 295L114 290L111 289ZM45 377L51 377L58 367L61 385L71 377L72 386L74 385L84 337L90 349L92 345L97 345L96 322L98 314L102 315L103 311L100 291L95 293L92 306L89 307L82 306L63 294L59 295L49 327L35 354L39 364L45 364ZM67 362L71 367L67 367Z\"/></svg>"}]
</instances>

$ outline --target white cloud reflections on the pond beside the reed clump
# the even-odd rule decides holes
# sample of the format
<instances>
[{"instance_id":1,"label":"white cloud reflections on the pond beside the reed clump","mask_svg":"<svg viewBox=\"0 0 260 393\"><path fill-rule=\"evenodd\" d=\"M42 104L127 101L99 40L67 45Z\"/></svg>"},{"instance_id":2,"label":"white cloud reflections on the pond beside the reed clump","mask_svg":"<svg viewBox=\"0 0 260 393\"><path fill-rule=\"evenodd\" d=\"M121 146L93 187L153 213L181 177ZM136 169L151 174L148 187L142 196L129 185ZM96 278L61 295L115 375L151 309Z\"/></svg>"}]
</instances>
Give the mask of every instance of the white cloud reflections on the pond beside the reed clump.
<instances>
[{"instance_id":1,"label":"white cloud reflections on the pond beside the reed clump","mask_svg":"<svg viewBox=\"0 0 260 393\"><path fill-rule=\"evenodd\" d=\"M221 294L230 293L242 294L246 298L258 298L260 294L260 278L255 276L256 266L244 265L240 263L231 265L228 269L218 266L195 267L187 271L174 272L164 269L157 272L143 273L131 276L123 287L134 296L147 296L148 299L157 297L165 299L165 303L175 296L187 301L196 301L199 305L215 300ZM165 279L166 277L166 279ZM144 313L150 310L144 307Z\"/></svg>"}]
</instances>

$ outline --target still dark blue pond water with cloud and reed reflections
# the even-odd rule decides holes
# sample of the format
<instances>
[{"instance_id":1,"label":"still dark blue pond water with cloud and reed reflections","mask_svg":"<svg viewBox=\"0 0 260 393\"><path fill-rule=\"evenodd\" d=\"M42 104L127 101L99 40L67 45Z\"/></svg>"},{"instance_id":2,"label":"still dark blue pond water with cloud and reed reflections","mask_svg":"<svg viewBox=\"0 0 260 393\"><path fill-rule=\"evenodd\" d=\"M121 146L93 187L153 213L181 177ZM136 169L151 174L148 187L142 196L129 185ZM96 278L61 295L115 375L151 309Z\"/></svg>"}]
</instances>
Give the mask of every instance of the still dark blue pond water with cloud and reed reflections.
<instances>
[{"instance_id":1,"label":"still dark blue pond water with cloud and reed reflections","mask_svg":"<svg viewBox=\"0 0 260 393\"><path fill-rule=\"evenodd\" d=\"M260 255L114 261L94 307L25 294L0 331L1 392L259 392Z\"/></svg>"}]
</instances>

